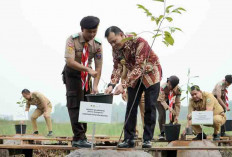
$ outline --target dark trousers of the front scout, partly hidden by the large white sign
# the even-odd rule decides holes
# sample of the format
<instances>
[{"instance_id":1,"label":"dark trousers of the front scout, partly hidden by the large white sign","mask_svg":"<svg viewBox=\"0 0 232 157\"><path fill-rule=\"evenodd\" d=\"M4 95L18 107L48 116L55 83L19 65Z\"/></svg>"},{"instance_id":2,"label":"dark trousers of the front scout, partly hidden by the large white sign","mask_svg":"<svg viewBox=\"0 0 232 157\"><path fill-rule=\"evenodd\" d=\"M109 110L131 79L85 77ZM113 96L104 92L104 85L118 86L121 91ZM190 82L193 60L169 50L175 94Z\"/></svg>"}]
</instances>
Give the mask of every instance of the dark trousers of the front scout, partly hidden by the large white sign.
<instances>
[{"instance_id":1,"label":"dark trousers of the front scout, partly hidden by the large white sign","mask_svg":"<svg viewBox=\"0 0 232 157\"><path fill-rule=\"evenodd\" d=\"M86 101L85 94L82 90L81 73L65 66L63 71L63 80L66 85L67 108L72 125L73 141L86 139L87 123L79 123L80 101Z\"/></svg>"}]
</instances>

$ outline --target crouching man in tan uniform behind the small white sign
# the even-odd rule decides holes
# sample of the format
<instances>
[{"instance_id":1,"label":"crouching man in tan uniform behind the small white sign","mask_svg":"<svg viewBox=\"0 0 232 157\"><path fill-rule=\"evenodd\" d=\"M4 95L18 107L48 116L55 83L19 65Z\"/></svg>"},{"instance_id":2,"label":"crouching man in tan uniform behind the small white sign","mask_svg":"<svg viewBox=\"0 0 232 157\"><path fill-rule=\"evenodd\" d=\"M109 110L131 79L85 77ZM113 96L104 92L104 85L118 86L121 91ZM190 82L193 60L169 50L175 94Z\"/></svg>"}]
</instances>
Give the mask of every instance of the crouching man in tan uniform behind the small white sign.
<instances>
[{"instance_id":1,"label":"crouching man in tan uniform behind the small white sign","mask_svg":"<svg viewBox=\"0 0 232 157\"><path fill-rule=\"evenodd\" d=\"M220 140L221 126L226 122L226 115L222 106L211 93L202 92L199 86L191 87L192 98L189 101L189 112L187 116L188 124L191 125L192 111L213 111L213 125L214 134L213 140ZM208 126L208 125L207 125ZM200 125L192 125L192 129L197 134L193 140L202 140L202 128ZM206 139L206 134L203 134Z\"/></svg>"}]
</instances>

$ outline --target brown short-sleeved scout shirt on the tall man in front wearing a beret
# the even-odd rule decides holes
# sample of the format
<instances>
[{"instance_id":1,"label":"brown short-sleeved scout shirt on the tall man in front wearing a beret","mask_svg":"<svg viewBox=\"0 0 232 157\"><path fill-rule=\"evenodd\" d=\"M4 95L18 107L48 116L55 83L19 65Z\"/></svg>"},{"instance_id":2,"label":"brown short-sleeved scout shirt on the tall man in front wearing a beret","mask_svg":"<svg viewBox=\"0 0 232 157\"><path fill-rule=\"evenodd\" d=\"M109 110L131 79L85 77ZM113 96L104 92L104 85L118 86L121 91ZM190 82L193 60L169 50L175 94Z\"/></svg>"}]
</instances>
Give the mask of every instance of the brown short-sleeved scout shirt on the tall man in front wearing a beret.
<instances>
[{"instance_id":1,"label":"brown short-sleeved scout shirt on the tall man in front wearing a beret","mask_svg":"<svg viewBox=\"0 0 232 157\"><path fill-rule=\"evenodd\" d=\"M81 64L82 52L85 44L85 39L82 33L71 35L66 41L65 58L75 58L75 61ZM102 45L98 39L93 39L88 42L89 60L88 65L91 68L92 59L95 64L102 64Z\"/></svg>"}]
</instances>

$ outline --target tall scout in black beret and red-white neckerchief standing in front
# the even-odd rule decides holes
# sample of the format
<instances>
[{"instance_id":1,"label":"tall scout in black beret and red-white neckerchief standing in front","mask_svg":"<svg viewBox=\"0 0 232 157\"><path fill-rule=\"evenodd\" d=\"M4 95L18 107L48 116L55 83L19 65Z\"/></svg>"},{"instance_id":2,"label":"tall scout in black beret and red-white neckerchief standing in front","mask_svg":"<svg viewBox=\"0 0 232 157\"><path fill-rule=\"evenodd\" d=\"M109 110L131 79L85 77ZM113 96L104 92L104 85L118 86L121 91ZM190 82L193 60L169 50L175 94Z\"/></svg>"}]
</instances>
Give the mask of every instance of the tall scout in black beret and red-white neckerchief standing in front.
<instances>
[{"instance_id":1,"label":"tall scout in black beret and red-white neckerchief standing in front","mask_svg":"<svg viewBox=\"0 0 232 157\"><path fill-rule=\"evenodd\" d=\"M73 130L73 147L91 147L87 141L87 124L79 123L80 101L86 101L85 94L98 93L98 83L102 70L102 45L95 38L99 25L99 18L84 17L81 22L82 32L71 35L66 42L66 66L63 80L66 85L67 107ZM95 70L92 69L94 58ZM90 77L94 77L93 87Z\"/></svg>"}]
</instances>

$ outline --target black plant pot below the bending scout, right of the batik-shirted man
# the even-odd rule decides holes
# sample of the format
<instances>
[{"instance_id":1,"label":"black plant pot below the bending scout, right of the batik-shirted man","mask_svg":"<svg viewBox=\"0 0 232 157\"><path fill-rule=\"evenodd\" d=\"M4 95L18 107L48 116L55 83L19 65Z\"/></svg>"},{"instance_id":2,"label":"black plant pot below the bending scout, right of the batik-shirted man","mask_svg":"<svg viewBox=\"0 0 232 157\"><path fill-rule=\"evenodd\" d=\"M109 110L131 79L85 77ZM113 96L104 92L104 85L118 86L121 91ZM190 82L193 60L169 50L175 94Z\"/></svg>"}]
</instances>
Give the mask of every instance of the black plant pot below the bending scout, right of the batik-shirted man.
<instances>
[{"instance_id":1,"label":"black plant pot below the bending scout, right of the batik-shirted man","mask_svg":"<svg viewBox=\"0 0 232 157\"><path fill-rule=\"evenodd\" d=\"M180 127L180 124L164 124L164 132L168 142L179 139Z\"/></svg>"}]
</instances>

